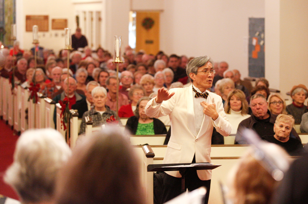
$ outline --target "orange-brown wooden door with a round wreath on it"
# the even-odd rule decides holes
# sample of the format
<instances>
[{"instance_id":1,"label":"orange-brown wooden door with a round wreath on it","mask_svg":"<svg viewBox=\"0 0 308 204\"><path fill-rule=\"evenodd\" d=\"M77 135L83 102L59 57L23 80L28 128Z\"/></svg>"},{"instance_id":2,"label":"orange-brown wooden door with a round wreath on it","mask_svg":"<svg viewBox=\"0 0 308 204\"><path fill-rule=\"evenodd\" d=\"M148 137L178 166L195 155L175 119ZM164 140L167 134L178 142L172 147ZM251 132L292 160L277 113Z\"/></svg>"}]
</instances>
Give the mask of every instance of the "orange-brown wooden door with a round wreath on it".
<instances>
[{"instance_id":1,"label":"orange-brown wooden door with a round wreath on it","mask_svg":"<svg viewBox=\"0 0 308 204\"><path fill-rule=\"evenodd\" d=\"M159 52L159 12L136 12L136 52Z\"/></svg>"}]
</instances>

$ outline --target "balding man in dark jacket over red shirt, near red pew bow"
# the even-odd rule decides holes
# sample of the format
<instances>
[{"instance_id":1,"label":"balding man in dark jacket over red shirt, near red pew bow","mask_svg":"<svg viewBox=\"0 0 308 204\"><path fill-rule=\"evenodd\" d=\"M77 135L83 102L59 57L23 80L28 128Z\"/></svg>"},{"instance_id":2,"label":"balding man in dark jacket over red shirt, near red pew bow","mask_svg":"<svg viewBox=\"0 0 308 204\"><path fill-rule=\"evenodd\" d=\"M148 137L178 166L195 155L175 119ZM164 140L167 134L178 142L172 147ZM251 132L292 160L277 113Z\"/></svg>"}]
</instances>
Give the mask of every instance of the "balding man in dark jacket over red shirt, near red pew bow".
<instances>
[{"instance_id":1,"label":"balding man in dark jacket over red shirt, near red pew bow","mask_svg":"<svg viewBox=\"0 0 308 204\"><path fill-rule=\"evenodd\" d=\"M77 82L74 78L66 78L63 82L64 92L53 98L56 103L63 101L65 97L69 98L69 109L78 110L78 118L82 118L85 111L88 110L86 97L76 92ZM53 122L56 125L56 108L54 109Z\"/></svg>"}]
</instances>

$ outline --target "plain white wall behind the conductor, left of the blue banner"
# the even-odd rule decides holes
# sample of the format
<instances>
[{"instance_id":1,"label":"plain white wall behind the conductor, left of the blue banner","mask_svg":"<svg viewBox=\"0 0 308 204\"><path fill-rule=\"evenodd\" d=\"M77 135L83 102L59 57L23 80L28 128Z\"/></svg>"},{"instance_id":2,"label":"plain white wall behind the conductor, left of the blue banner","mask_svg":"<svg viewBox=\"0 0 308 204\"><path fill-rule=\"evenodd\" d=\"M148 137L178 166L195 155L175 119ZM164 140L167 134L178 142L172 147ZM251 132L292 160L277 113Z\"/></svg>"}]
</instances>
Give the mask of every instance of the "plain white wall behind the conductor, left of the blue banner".
<instances>
[{"instance_id":1,"label":"plain white wall behind the conductor, left of the blue banner","mask_svg":"<svg viewBox=\"0 0 308 204\"><path fill-rule=\"evenodd\" d=\"M245 77L249 17L264 17L264 0L167 0L161 14L161 50L209 55Z\"/></svg>"}]
</instances>

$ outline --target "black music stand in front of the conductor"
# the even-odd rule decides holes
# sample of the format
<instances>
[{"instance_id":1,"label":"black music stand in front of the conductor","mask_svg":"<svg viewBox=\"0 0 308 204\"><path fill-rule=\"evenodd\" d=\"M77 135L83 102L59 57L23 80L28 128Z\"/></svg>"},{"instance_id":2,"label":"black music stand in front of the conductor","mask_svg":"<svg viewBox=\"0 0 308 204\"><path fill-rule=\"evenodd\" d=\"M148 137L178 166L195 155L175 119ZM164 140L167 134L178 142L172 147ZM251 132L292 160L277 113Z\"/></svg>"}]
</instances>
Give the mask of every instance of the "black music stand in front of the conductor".
<instances>
[{"instance_id":1,"label":"black music stand in front of the conductor","mask_svg":"<svg viewBox=\"0 0 308 204\"><path fill-rule=\"evenodd\" d=\"M179 171L182 176L182 193L185 192L185 175L189 170L211 170L221 165L209 163L181 163L181 164L149 164L147 171Z\"/></svg>"}]
</instances>

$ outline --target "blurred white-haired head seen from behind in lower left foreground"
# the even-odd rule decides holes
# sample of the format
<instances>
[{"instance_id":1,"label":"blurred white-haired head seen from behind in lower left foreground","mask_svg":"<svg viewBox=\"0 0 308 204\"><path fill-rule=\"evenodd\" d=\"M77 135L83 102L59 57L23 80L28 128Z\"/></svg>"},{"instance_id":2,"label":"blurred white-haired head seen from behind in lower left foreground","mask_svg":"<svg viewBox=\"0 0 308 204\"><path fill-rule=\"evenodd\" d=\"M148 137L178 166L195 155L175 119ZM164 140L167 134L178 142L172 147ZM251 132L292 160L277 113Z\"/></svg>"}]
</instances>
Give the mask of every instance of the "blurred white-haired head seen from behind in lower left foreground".
<instances>
[{"instance_id":1,"label":"blurred white-haired head seen from behind in lower left foreground","mask_svg":"<svg viewBox=\"0 0 308 204\"><path fill-rule=\"evenodd\" d=\"M58 131L27 130L17 141L14 162L4 180L22 203L53 203L57 173L70 155L70 148Z\"/></svg>"}]
</instances>

